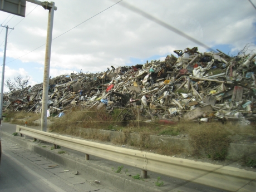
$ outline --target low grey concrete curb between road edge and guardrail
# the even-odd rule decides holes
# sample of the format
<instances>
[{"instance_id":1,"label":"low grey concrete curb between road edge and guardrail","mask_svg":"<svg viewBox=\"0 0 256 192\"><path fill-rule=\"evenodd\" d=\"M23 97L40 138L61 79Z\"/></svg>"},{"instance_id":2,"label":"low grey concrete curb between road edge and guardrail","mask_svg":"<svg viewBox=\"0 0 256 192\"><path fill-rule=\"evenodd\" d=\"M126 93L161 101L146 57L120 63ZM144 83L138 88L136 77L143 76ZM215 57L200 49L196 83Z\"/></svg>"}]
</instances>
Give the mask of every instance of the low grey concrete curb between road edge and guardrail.
<instances>
[{"instance_id":1,"label":"low grey concrete curb between road edge and guardrail","mask_svg":"<svg viewBox=\"0 0 256 192\"><path fill-rule=\"evenodd\" d=\"M163 191L156 188L154 184L145 183L141 180L135 180L126 175L115 174L113 171L102 170L100 166L92 164L88 161L81 159L72 159L70 156L63 156L58 154L56 150L47 150L38 146L37 144L24 140L24 137L13 136L7 132L2 132L2 138L12 141L15 144L21 145L22 147L31 150L47 159L54 161L57 164L70 168L72 170L79 170L82 174L90 174L98 180L107 181L107 184L115 186L123 191L134 192L134 191ZM112 172L112 173L111 173ZM146 184L146 185L145 185Z\"/></svg>"}]
</instances>

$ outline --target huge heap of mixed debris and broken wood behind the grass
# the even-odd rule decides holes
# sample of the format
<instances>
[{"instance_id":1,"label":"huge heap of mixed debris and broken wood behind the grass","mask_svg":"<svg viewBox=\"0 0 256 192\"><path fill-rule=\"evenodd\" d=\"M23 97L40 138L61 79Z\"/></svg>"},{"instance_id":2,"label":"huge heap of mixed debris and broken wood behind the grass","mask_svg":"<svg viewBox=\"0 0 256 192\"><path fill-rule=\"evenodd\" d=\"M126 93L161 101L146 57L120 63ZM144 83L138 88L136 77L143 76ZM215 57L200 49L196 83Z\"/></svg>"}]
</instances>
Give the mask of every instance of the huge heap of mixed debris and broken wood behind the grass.
<instances>
[{"instance_id":1,"label":"huge heap of mixed debris and broken wood behind the grass","mask_svg":"<svg viewBox=\"0 0 256 192\"><path fill-rule=\"evenodd\" d=\"M256 117L256 54L231 57L199 53L198 48L174 51L165 61L111 66L100 73L71 73L50 78L48 106L54 112L72 106L106 110L140 106L147 121L212 119L249 124ZM40 112L42 83L4 94L4 110ZM63 113L62 113L63 114ZM146 121L146 119L145 119Z\"/></svg>"}]
</instances>

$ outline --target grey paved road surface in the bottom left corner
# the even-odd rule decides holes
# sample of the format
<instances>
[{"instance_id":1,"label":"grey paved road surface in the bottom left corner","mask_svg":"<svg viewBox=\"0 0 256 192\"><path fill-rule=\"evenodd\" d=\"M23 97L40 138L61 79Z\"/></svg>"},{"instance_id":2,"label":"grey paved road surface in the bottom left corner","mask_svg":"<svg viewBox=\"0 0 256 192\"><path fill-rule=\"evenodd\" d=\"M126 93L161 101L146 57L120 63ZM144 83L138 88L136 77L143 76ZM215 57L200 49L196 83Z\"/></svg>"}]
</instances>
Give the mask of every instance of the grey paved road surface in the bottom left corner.
<instances>
[{"instance_id":1,"label":"grey paved road surface in the bottom left corner","mask_svg":"<svg viewBox=\"0 0 256 192\"><path fill-rule=\"evenodd\" d=\"M107 186L96 184L73 174L72 170L46 160L31 151L2 139L0 191L99 191L110 192Z\"/></svg>"}]
</instances>

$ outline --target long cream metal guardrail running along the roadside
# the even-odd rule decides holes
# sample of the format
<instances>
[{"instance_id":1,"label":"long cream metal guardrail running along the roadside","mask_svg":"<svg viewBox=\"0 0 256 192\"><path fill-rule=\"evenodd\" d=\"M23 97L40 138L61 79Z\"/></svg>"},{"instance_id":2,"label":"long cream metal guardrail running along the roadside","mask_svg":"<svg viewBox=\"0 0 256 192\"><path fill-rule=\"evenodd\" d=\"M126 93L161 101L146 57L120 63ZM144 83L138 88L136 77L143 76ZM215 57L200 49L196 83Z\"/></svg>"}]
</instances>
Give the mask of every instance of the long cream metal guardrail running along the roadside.
<instances>
[{"instance_id":1,"label":"long cream metal guardrail running along the roadside","mask_svg":"<svg viewBox=\"0 0 256 192\"><path fill-rule=\"evenodd\" d=\"M256 179L256 173L230 166L202 163L188 159L153 154L150 152L125 149L106 144L99 144L72 137L53 134L17 126L19 134L31 136L35 139L50 142L88 155L94 155L120 164L134 166L142 170L146 178L147 171L164 174L167 176L193 181L215 188L237 191Z\"/></svg>"}]
</instances>

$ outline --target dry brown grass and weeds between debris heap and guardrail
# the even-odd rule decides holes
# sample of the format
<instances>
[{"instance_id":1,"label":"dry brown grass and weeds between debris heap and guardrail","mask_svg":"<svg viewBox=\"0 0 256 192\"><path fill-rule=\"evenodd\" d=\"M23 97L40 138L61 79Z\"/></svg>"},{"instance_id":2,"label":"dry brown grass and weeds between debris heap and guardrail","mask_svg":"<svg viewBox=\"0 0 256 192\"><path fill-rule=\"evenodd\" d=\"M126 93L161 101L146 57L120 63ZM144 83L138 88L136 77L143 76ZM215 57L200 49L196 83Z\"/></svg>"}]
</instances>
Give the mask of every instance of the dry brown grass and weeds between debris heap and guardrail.
<instances>
[{"instance_id":1,"label":"dry brown grass and weeds between debris heap and guardrail","mask_svg":"<svg viewBox=\"0 0 256 192\"><path fill-rule=\"evenodd\" d=\"M128 114L128 116L127 116ZM256 128L253 125L240 126L237 123L228 122L209 122L199 124L198 122L179 122L175 125L160 125L156 122L150 124L137 121L123 121L126 117L133 114L137 116L136 109L114 110L109 114L102 109L90 109L88 111L72 108L66 111L61 118L54 119L50 130L60 134L80 136L83 139L92 139L100 141L111 141L114 144L129 144L140 149L154 150L163 155L174 155L188 152L191 155L199 157L209 157L211 159L224 160L227 155L227 149L230 142L238 140L255 140ZM39 116L38 116L39 115ZM8 114L13 118L13 123L24 125L24 116L28 126L33 124L33 120L40 119L40 114ZM103 133L100 130L122 130L119 136L111 140L110 134ZM131 133L135 133L131 137ZM154 143L151 141L151 135L169 135L188 134L191 151L185 149L180 144Z\"/></svg>"}]
</instances>

